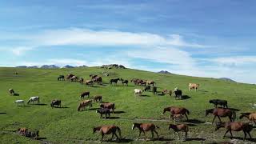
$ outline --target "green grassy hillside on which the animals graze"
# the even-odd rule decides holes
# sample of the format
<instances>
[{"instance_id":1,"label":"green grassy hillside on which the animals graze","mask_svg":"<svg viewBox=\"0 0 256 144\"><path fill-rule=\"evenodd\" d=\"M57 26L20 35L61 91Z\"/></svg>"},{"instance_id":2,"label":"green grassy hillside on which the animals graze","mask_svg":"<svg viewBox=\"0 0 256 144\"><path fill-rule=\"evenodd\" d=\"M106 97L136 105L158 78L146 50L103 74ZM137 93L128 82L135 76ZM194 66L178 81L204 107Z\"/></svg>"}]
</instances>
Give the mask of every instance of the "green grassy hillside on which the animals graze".
<instances>
[{"instance_id":1,"label":"green grassy hillside on which the animals graze","mask_svg":"<svg viewBox=\"0 0 256 144\"><path fill-rule=\"evenodd\" d=\"M14 74L14 72L18 74ZM221 98L228 100L232 108L240 111L237 113L237 121L240 112L254 111L250 103L254 103L256 86L235 82L224 82L214 78L194 78L175 74L155 74L141 70L108 70L110 77L104 77L103 82L109 82L110 78L142 78L157 82L158 90L174 90L178 86L183 94L190 98L184 100L175 100L169 95L160 96L146 92L144 97L134 96L135 88L142 86L106 86L95 85L94 87L81 85L78 82L58 82L59 74L75 74L80 78L90 79L89 74L101 75L103 69L98 67L74 68L74 69L22 69L22 68L0 68L0 143L94 143L99 142L101 135L92 133L93 126L103 124L114 124L122 129L122 142L133 143L175 143L173 140L173 131L168 130L169 114L161 115L162 109L166 106L183 106L190 110L190 132L188 141L185 143L211 143L226 142L230 138L222 139L225 133L224 129L215 131L214 126L209 124L213 116L210 114L205 117L205 110L213 108L209 104L212 98ZM188 83L199 83L198 92L189 91ZM8 90L12 88L20 94L19 96L10 96ZM102 94L103 102L114 102L117 114L112 114L112 119L101 119L99 114L95 113L99 102L93 103L92 110L82 112L77 111L80 94L83 91L90 91L90 98L96 94ZM41 103L46 105L16 106L14 100L28 100L31 96L39 96ZM65 108L50 107L52 99L61 99L62 106ZM122 113L123 112L123 113ZM133 118L138 117L135 120ZM152 122L138 119L154 119L159 126L158 134L161 141L142 141L135 139L138 137L138 130L131 130L133 122ZM228 118L222 118L227 122ZM242 119L242 121L247 121ZM19 127L27 127L30 130L39 130L41 140L25 138L14 130ZM242 132L234 132L234 137L243 137ZM256 138L255 130L252 131L252 137ZM151 134L146 134L148 138ZM229 134L228 134L229 135ZM111 135L105 137L110 138ZM143 138L142 134L142 138ZM238 142L243 143L241 140ZM246 141L250 142L250 141Z\"/></svg>"}]
</instances>

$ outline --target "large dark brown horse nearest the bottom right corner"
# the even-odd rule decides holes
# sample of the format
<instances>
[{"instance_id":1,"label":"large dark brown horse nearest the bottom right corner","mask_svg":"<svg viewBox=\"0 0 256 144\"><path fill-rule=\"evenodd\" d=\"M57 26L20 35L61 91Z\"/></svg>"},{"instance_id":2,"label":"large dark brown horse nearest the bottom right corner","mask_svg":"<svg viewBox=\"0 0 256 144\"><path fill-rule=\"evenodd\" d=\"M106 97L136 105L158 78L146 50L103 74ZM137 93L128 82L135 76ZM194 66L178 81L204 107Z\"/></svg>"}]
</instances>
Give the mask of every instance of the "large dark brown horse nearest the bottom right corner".
<instances>
[{"instance_id":1,"label":"large dark brown horse nearest the bottom right corner","mask_svg":"<svg viewBox=\"0 0 256 144\"><path fill-rule=\"evenodd\" d=\"M218 130L219 128L224 127L226 128L226 133L223 135L223 138L226 137L226 134L230 132L231 139L233 138L233 134L231 131L243 131L243 134L245 137L243 140L246 140L246 133L249 134L250 139L250 131L253 130L253 126L246 122L217 122L215 126L215 130Z\"/></svg>"}]
</instances>

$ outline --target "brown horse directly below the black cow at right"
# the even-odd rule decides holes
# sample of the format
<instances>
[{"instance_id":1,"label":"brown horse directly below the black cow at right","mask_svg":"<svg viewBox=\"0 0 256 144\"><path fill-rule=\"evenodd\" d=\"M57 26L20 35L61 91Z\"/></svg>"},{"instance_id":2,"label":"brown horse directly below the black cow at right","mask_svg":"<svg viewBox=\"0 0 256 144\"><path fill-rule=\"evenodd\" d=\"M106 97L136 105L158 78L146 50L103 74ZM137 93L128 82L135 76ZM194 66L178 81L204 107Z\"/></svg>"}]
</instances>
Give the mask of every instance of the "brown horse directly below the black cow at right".
<instances>
[{"instance_id":1,"label":"brown horse directly below the black cow at right","mask_svg":"<svg viewBox=\"0 0 256 144\"><path fill-rule=\"evenodd\" d=\"M234 119L236 117L234 110L230 110L226 108L215 108L215 109L206 110L206 116L208 114L214 114L214 119L212 123L214 123L214 120L216 117L218 117L219 122L222 122L220 117L228 117L230 118L230 122L234 122Z\"/></svg>"}]
</instances>

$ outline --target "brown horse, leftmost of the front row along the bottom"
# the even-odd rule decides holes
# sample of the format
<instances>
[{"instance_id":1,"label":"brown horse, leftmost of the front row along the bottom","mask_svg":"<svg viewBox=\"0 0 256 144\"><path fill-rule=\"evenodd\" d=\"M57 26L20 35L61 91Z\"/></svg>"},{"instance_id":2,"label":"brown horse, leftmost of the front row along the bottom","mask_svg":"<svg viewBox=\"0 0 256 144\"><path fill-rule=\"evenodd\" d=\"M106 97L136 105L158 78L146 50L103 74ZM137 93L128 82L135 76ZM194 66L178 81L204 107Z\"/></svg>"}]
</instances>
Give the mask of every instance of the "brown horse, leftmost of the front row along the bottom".
<instances>
[{"instance_id":1,"label":"brown horse, leftmost of the front row along the bottom","mask_svg":"<svg viewBox=\"0 0 256 144\"><path fill-rule=\"evenodd\" d=\"M111 139L113 139L114 135L115 135L117 137L117 139L119 140L117 131L119 133L119 137L121 138L121 130L118 126L114 126L114 125L111 125L111 126L97 126L97 127L94 127L94 133L96 131L98 131L100 134L102 134L102 140L103 140L103 137L104 137L105 134L112 134ZM101 142L102 142L102 140L101 140Z\"/></svg>"}]
</instances>

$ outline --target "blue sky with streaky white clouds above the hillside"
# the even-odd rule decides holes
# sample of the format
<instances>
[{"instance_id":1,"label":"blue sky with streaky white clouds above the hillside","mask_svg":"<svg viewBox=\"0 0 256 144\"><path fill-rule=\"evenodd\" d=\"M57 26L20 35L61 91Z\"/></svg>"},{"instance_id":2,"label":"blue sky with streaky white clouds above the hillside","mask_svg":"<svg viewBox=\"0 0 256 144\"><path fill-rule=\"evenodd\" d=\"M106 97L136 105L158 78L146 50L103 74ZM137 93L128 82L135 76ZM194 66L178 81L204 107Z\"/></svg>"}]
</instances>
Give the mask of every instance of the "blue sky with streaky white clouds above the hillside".
<instances>
[{"instance_id":1,"label":"blue sky with streaky white clouds above the hillside","mask_svg":"<svg viewBox=\"0 0 256 144\"><path fill-rule=\"evenodd\" d=\"M1 0L0 66L126 67L256 83L256 1Z\"/></svg>"}]
</instances>

